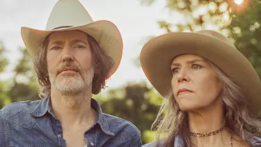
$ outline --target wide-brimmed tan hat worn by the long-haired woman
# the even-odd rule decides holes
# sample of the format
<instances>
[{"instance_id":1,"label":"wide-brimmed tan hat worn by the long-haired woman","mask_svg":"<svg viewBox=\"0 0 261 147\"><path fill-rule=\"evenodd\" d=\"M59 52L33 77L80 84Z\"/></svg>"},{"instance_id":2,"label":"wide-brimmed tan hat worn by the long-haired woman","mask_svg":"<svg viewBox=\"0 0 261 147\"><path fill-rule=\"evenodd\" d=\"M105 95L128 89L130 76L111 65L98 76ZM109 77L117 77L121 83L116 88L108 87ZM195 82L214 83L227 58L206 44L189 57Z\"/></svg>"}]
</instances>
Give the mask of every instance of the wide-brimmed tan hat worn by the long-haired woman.
<instances>
[{"instance_id":1,"label":"wide-brimmed tan hat worn by the long-haired woman","mask_svg":"<svg viewBox=\"0 0 261 147\"><path fill-rule=\"evenodd\" d=\"M195 54L212 61L242 88L249 111L261 108L261 83L257 72L225 36L216 31L167 33L147 42L141 51L141 67L148 80L163 96L171 90L171 63L181 54Z\"/></svg>"}]
</instances>

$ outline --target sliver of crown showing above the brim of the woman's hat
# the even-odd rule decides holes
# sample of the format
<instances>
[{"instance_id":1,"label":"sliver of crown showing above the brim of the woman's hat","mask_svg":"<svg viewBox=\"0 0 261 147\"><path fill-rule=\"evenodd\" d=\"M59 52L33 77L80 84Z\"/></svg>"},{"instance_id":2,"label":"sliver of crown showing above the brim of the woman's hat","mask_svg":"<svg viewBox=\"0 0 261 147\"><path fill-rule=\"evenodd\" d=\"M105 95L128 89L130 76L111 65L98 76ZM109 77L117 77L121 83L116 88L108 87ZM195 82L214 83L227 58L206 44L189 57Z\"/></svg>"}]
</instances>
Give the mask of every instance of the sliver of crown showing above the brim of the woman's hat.
<instances>
[{"instance_id":1,"label":"sliver of crown showing above the brim of the woman's hat","mask_svg":"<svg viewBox=\"0 0 261 147\"><path fill-rule=\"evenodd\" d=\"M196 33L200 33L200 34L204 34L206 36L210 36L212 38L216 38L236 49L234 43L229 38L226 38L226 36L223 36L221 33L217 32L217 31L200 30L200 31L196 31Z\"/></svg>"}]
</instances>

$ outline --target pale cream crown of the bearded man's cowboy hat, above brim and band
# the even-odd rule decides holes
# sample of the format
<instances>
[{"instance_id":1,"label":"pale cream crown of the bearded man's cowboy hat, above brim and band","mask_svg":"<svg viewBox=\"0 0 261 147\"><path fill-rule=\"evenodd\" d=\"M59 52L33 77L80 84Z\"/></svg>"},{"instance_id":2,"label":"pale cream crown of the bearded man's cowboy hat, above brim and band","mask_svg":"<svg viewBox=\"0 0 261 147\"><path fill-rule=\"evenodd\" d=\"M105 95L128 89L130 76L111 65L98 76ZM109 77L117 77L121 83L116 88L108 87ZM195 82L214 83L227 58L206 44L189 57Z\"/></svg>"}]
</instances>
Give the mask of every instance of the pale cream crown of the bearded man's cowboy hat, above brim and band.
<instances>
[{"instance_id":1,"label":"pale cream crown of the bearded man's cowboy hat, above brim and band","mask_svg":"<svg viewBox=\"0 0 261 147\"><path fill-rule=\"evenodd\" d=\"M49 15L46 30L82 26L91 22L93 19L78 0L59 0Z\"/></svg>"}]
</instances>

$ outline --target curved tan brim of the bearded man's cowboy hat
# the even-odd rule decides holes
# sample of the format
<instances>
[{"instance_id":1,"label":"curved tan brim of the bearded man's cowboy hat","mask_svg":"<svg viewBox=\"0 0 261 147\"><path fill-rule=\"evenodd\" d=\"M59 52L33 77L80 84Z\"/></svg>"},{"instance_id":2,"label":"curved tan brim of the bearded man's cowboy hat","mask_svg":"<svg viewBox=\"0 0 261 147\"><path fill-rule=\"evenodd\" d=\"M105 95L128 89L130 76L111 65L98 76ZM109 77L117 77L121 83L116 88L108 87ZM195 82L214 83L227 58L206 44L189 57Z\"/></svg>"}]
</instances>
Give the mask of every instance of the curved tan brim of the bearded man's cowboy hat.
<instances>
[{"instance_id":1,"label":"curved tan brim of the bearded man's cowboy hat","mask_svg":"<svg viewBox=\"0 0 261 147\"><path fill-rule=\"evenodd\" d=\"M112 22L106 20L100 20L86 24L83 26L72 26L64 29L56 29L50 31L43 31L37 29L31 29L28 27L22 27L22 39L26 49L28 49L29 54L34 56L42 41L54 31L70 31L70 30L79 30L85 33L88 33L90 36L93 36L95 40L99 43L100 47L104 49L104 52L107 56L110 56L113 59L113 68L111 68L109 75L106 79L111 77L114 72L116 72L118 66L120 65L120 60L122 58L122 37L120 31Z\"/></svg>"}]
</instances>

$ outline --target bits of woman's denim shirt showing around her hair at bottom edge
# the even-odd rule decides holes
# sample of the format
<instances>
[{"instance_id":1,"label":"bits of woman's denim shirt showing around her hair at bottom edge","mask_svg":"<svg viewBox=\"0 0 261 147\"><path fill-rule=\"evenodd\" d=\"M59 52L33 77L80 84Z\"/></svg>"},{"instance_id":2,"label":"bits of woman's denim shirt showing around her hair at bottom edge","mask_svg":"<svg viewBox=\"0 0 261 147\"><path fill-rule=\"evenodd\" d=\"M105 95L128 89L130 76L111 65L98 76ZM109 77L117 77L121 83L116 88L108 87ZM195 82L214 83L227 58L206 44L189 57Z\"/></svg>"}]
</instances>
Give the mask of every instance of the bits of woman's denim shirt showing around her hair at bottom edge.
<instances>
[{"instance_id":1,"label":"bits of woman's denim shirt showing around her hair at bottom edge","mask_svg":"<svg viewBox=\"0 0 261 147\"><path fill-rule=\"evenodd\" d=\"M162 147L162 140L159 141L159 147ZM261 139L258 137L252 137L251 139L248 139L248 144L250 144L251 147L261 147ZM142 147L156 147L156 142L151 142L149 144L145 144ZM173 144L173 147L184 147L184 141L181 137L175 137L175 141Z\"/></svg>"}]
</instances>

